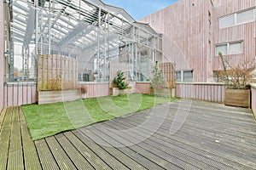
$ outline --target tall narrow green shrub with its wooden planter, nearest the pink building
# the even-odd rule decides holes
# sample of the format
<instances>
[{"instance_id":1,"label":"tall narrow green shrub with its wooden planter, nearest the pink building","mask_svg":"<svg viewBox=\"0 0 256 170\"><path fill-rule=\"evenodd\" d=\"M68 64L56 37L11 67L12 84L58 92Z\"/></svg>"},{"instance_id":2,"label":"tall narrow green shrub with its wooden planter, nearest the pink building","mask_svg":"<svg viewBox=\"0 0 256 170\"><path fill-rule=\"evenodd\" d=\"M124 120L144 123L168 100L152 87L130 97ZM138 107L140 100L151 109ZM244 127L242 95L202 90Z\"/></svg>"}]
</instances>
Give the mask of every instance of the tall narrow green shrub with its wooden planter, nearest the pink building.
<instances>
[{"instance_id":1,"label":"tall narrow green shrub with its wooden planter, nearest the pink building","mask_svg":"<svg viewBox=\"0 0 256 170\"><path fill-rule=\"evenodd\" d=\"M155 62L153 77L149 81L150 88L149 92L153 95L160 96L170 96L170 88L168 87L165 77L163 76L163 71L159 69L158 62Z\"/></svg>"}]
</instances>

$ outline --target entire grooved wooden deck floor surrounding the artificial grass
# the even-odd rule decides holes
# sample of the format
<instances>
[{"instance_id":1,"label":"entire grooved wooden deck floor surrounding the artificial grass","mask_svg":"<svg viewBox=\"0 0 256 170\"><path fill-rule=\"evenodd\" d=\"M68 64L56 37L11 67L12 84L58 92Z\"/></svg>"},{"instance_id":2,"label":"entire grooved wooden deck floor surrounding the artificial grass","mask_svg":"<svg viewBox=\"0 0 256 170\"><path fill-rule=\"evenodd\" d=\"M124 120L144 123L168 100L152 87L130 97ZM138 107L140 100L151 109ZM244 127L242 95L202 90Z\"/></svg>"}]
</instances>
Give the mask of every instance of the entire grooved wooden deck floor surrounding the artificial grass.
<instances>
[{"instance_id":1,"label":"entire grooved wooden deck floor surrounding the artificial grass","mask_svg":"<svg viewBox=\"0 0 256 170\"><path fill-rule=\"evenodd\" d=\"M179 104L35 142L20 107L5 109L0 115L0 169L256 169L251 111L202 101L191 107L189 100ZM172 134L171 126L183 122L177 111L189 115Z\"/></svg>"}]
</instances>

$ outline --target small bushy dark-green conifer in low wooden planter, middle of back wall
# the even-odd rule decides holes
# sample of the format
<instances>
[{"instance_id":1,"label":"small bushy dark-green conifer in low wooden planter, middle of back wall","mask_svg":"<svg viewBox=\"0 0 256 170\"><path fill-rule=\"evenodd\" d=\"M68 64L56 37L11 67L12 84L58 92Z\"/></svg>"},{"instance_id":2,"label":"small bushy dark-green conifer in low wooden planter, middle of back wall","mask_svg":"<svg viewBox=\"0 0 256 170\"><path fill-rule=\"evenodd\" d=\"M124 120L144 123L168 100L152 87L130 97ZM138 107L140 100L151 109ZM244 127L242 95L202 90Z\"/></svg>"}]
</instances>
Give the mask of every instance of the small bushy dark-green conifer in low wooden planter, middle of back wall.
<instances>
[{"instance_id":1,"label":"small bushy dark-green conifer in low wooden planter, middle of back wall","mask_svg":"<svg viewBox=\"0 0 256 170\"><path fill-rule=\"evenodd\" d=\"M113 78L113 88L110 88L110 94L117 96L119 94L129 94L129 83L125 82L126 77L123 71L118 71L117 76Z\"/></svg>"}]
</instances>

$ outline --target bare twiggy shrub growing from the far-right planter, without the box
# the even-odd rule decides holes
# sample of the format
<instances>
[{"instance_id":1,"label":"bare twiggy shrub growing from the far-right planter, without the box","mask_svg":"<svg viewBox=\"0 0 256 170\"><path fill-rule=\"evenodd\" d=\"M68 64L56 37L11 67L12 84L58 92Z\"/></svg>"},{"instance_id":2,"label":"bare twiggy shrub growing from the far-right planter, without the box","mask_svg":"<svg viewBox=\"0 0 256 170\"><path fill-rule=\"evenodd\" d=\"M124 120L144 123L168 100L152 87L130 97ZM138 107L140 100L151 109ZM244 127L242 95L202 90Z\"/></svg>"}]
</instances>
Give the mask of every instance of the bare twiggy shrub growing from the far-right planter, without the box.
<instances>
[{"instance_id":1,"label":"bare twiggy shrub growing from the far-right planter, without the box","mask_svg":"<svg viewBox=\"0 0 256 170\"><path fill-rule=\"evenodd\" d=\"M224 59L219 52L218 56L221 59L224 71L218 72L218 80L225 82L227 88L230 89L248 89L248 84L252 81L252 71L255 68L255 62L247 61L237 66L232 66Z\"/></svg>"}]
</instances>

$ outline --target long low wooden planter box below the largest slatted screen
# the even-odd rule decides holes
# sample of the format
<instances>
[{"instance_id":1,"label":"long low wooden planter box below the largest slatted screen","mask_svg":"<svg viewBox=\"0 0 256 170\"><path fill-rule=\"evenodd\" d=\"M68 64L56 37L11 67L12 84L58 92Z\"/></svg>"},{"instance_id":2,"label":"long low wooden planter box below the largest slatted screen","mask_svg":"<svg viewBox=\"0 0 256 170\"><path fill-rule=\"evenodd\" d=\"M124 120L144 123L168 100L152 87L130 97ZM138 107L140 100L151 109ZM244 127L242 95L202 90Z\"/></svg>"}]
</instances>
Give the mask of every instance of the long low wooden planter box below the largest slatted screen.
<instances>
[{"instance_id":1,"label":"long low wooden planter box below the largest slatted screen","mask_svg":"<svg viewBox=\"0 0 256 170\"><path fill-rule=\"evenodd\" d=\"M38 91L38 105L64 101L73 101L80 98L79 89L59 91Z\"/></svg>"}]
</instances>

